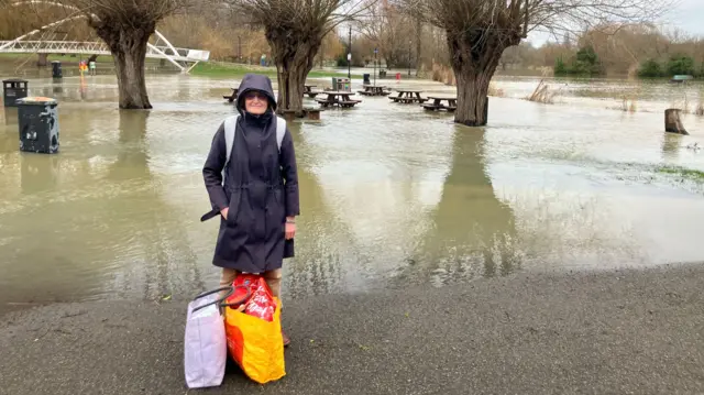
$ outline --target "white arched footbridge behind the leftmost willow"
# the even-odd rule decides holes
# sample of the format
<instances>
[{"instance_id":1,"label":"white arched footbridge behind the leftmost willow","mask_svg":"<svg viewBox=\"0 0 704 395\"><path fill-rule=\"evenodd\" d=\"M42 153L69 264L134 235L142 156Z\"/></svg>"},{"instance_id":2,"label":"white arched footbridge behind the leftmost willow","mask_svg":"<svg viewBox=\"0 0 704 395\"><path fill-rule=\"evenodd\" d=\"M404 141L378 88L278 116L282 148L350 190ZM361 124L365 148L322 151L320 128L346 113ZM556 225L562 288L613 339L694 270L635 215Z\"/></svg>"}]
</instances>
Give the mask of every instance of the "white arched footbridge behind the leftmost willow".
<instances>
[{"instance_id":1,"label":"white arched footbridge behind the leftmost willow","mask_svg":"<svg viewBox=\"0 0 704 395\"><path fill-rule=\"evenodd\" d=\"M22 2L19 2L13 6L19 6L21 3ZM55 40L56 34L53 33L54 28L65 22L82 18L85 17L79 15L66 18L61 21L50 23L40 29L33 30L14 40L0 41L0 54L78 54L88 56L110 55L110 48L102 41L79 42ZM40 35L38 33L42 33L42 40L35 40L35 37ZM209 51L175 47L158 31L154 33L154 37L156 39L154 43L150 42L146 44L146 57L166 59L184 73L190 72L198 63L208 62L208 59L210 58Z\"/></svg>"}]
</instances>

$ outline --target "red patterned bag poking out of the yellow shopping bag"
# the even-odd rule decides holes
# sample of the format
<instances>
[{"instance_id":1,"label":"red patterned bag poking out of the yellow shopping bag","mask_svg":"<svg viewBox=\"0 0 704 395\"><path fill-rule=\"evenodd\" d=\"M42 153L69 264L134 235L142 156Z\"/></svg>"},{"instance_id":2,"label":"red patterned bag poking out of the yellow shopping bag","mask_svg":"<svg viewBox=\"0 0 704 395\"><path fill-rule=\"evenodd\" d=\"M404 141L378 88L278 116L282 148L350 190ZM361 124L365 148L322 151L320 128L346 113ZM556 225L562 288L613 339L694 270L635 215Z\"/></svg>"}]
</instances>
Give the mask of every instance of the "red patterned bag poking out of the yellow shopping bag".
<instances>
[{"instance_id":1,"label":"red patterned bag poking out of the yellow shopping bag","mask_svg":"<svg viewBox=\"0 0 704 395\"><path fill-rule=\"evenodd\" d=\"M257 274L238 274L232 285L235 292L227 301L242 300L246 297L249 289L251 296L243 303L244 314L270 322L274 320L276 301L264 277ZM238 307L232 306L232 308Z\"/></svg>"}]
</instances>

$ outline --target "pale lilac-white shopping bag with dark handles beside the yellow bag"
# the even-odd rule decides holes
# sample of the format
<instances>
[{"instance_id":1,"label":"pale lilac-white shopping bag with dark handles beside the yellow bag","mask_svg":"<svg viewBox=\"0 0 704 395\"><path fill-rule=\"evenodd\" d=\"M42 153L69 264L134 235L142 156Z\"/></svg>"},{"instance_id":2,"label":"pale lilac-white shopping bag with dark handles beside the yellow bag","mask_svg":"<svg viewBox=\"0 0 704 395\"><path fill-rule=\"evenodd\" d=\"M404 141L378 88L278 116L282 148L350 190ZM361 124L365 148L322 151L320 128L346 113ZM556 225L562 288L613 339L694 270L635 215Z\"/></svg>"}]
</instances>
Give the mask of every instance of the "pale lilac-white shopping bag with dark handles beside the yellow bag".
<instances>
[{"instance_id":1,"label":"pale lilac-white shopping bag with dark handles beside the yellow bag","mask_svg":"<svg viewBox=\"0 0 704 395\"><path fill-rule=\"evenodd\" d=\"M217 294L220 290L232 294L232 287L219 288L200 294L188 304L184 370L189 388L218 386L224 377L228 344L220 314L223 297Z\"/></svg>"}]
</instances>

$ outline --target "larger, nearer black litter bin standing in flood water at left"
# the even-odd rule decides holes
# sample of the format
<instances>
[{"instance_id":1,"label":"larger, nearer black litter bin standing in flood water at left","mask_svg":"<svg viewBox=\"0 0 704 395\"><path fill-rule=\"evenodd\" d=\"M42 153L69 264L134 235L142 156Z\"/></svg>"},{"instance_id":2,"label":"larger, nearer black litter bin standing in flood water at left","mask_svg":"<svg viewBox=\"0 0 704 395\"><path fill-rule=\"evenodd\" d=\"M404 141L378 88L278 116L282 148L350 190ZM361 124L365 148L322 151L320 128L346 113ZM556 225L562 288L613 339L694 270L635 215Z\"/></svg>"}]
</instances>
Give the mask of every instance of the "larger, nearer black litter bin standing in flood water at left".
<instances>
[{"instance_id":1,"label":"larger, nearer black litter bin standing in flood water at left","mask_svg":"<svg viewBox=\"0 0 704 395\"><path fill-rule=\"evenodd\" d=\"M58 153L58 102L52 98L28 97L18 101L20 151Z\"/></svg>"}]
</instances>

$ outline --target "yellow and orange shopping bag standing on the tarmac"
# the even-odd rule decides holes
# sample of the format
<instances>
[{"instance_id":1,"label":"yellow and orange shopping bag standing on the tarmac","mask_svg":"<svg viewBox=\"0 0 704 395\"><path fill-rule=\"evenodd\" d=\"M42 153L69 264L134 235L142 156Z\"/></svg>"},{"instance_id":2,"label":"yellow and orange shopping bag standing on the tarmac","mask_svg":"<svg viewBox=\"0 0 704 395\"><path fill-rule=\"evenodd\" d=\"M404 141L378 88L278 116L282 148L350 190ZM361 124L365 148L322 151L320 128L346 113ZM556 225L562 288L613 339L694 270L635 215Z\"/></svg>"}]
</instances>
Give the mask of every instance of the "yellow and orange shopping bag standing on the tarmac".
<instances>
[{"instance_id":1,"label":"yellow and orange shopping bag standing on the tarmac","mask_svg":"<svg viewBox=\"0 0 704 395\"><path fill-rule=\"evenodd\" d=\"M278 298L270 322L233 308L226 308L226 333L230 355L253 381L264 384L286 375L282 309Z\"/></svg>"}]
</instances>

